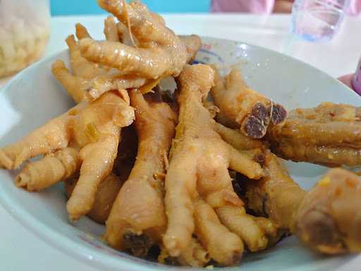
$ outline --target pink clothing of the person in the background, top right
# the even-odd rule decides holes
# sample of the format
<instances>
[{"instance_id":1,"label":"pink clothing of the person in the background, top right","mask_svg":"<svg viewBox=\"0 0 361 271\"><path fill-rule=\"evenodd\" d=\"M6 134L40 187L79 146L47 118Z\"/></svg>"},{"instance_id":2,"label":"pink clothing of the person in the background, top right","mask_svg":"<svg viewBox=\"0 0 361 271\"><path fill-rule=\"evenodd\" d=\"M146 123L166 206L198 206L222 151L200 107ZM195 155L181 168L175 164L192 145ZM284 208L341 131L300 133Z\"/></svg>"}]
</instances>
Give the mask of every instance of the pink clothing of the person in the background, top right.
<instances>
[{"instance_id":1,"label":"pink clothing of the person in the background, top right","mask_svg":"<svg viewBox=\"0 0 361 271\"><path fill-rule=\"evenodd\" d=\"M250 12L271 13L275 0L212 0L212 12ZM361 0L350 0L347 13L352 16L361 14Z\"/></svg>"}]
</instances>

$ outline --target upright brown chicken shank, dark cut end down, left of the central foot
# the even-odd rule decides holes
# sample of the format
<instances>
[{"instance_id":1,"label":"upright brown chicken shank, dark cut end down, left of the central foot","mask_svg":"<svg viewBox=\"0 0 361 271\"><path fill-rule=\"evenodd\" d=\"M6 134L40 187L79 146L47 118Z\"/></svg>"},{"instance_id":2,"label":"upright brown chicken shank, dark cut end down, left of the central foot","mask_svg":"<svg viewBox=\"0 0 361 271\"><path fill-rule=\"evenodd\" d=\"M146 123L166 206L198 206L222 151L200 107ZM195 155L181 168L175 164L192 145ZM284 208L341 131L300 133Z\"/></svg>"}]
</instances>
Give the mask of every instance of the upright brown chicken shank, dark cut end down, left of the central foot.
<instances>
[{"instance_id":1,"label":"upright brown chicken shank, dark cut end down, left of the central foot","mask_svg":"<svg viewBox=\"0 0 361 271\"><path fill-rule=\"evenodd\" d=\"M130 90L130 100L135 107L137 159L116 197L105 234L111 246L123 250L125 236L144 234L159 243L164 233L164 174L176 126L176 114L168 104L149 95L145 100L139 90Z\"/></svg>"}]
</instances>

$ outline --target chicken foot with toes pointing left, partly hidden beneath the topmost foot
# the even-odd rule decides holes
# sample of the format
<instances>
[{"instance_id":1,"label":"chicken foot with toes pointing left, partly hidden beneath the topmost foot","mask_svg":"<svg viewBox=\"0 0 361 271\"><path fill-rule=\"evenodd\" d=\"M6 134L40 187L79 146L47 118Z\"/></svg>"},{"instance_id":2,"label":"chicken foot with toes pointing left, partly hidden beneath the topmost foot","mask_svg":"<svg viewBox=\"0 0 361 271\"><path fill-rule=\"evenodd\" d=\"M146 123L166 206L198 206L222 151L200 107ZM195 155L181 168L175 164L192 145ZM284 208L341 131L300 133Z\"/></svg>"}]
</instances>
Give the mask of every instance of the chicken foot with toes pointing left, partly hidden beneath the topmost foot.
<instances>
[{"instance_id":1,"label":"chicken foot with toes pointing left, partly hidden beneath the topmost foot","mask_svg":"<svg viewBox=\"0 0 361 271\"><path fill-rule=\"evenodd\" d=\"M121 23L118 24L121 25ZM91 39L87 29L80 23L75 25L75 29L78 40ZM119 33L119 29L122 29L123 33ZM117 27L114 18L111 16L104 20L104 35L106 40L117 43L121 42L122 39L130 39L128 37L129 33L119 25ZM202 44L200 37L195 35L181 36L180 40L185 46L187 61L192 61ZM80 53L79 44L75 41L73 35L66 39L66 43L69 47L73 74L68 71L68 68L61 60L57 60L53 64L51 71L75 102L95 100L109 90L139 88L143 85L148 86L145 86L145 90L142 90L142 92L149 92L159 83L160 78L155 81L146 80L133 74L126 74L116 68L88 61Z\"/></svg>"}]
</instances>

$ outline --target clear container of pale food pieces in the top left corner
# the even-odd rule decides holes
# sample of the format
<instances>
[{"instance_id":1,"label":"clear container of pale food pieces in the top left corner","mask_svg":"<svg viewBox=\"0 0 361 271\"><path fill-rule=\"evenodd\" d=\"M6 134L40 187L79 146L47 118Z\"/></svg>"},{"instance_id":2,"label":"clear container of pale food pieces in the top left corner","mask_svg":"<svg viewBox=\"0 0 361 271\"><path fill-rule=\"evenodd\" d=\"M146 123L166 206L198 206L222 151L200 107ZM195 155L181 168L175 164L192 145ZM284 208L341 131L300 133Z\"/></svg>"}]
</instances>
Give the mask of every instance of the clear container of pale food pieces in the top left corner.
<instances>
[{"instance_id":1,"label":"clear container of pale food pieces in the top left corner","mask_svg":"<svg viewBox=\"0 0 361 271\"><path fill-rule=\"evenodd\" d=\"M0 0L0 78L39 59L49 32L49 0Z\"/></svg>"}]
</instances>

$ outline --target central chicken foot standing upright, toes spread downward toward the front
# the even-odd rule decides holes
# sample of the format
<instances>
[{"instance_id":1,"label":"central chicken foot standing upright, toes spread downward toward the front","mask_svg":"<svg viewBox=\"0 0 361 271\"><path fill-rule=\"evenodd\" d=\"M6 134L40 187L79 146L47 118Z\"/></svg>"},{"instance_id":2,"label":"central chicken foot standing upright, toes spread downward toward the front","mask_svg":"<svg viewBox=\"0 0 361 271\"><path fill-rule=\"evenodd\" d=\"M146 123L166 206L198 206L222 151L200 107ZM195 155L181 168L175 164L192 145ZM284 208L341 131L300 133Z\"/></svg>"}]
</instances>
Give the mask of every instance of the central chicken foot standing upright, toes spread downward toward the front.
<instances>
[{"instance_id":1,"label":"central chicken foot standing upright, toes spread downward toward the front","mask_svg":"<svg viewBox=\"0 0 361 271\"><path fill-rule=\"evenodd\" d=\"M196 233L210 254L212 250L212 257L221 264L232 265L240 260L243 243L219 222L213 208L243 205L233 191L228 168L253 179L259 179L264 172L257 162L235 150L216 133L214 119L202 104L212 87L213 76L210 66L195 65L186 66L178 78L179 117L166 174L168 227L163 243L169 255L177 257ZM195 205L200 207L197 212ZM197 217L197 213L201 217ZM222 246L209 243L211 231L227 236L226 243ZM222 250L222 255L216 255L217 249Z\"/></svg>"}]
</instances>

